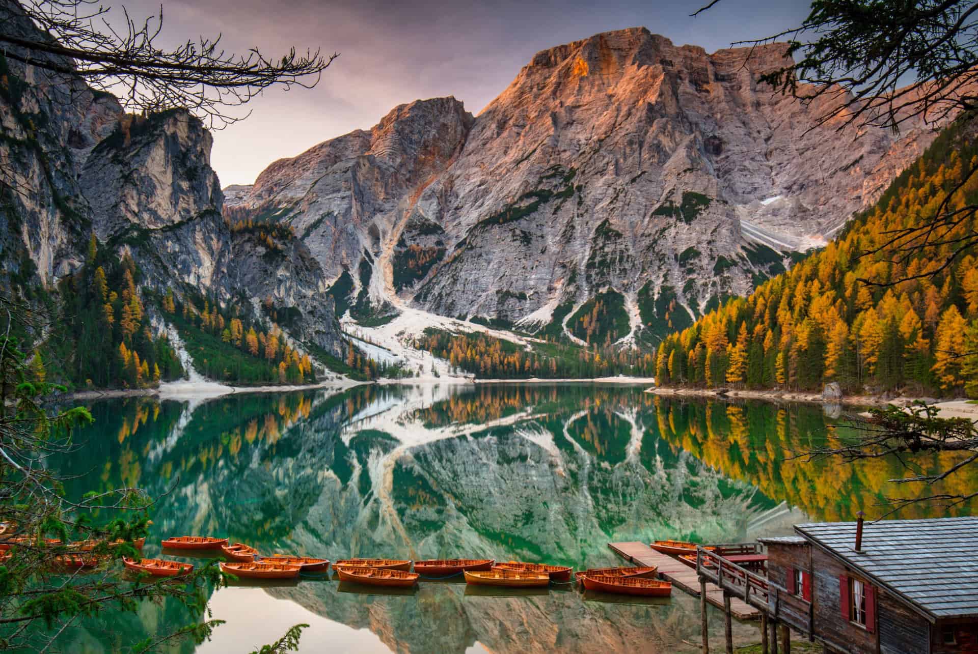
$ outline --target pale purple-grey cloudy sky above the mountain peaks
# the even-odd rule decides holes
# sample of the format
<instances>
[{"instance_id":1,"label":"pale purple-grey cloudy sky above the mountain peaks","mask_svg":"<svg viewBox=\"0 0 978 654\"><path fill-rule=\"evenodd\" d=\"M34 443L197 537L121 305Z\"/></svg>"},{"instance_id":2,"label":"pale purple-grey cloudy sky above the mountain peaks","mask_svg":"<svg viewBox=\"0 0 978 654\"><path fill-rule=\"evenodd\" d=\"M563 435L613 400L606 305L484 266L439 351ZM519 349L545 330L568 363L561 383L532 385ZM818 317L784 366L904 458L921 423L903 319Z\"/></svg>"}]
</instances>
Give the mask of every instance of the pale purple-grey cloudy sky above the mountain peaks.
<instances>
[{"instance_id":1,"label":"pale purple-grey cloudy sky above the mountain peaks","mask_svg":"<svg viewBox=\"0 0 978 654\"><path fill-rule=\"evenodd\" d=\"M455 96L477 115L535 53L562 43L645 26L714 52L794 26L809 9L809 0L721 0L690 18L705 1L162 0L161 43L220 33L236 52L339 53L314 89L266 90L247 104L245 120L214 133L211 166L228 186L252 183L278 158L369 129L414 100ZM159 2L106 4L147 17Z\"/></svg>"}]
</instances>

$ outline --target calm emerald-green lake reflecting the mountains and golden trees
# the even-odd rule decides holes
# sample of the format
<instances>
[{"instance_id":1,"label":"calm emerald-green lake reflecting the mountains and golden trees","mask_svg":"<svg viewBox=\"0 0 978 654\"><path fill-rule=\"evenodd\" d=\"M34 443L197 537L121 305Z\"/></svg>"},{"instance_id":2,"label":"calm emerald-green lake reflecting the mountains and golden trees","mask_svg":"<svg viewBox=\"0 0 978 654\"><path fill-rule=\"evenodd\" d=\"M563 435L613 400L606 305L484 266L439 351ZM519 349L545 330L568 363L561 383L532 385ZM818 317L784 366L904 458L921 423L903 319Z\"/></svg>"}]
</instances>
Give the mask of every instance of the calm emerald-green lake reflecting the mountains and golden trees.
<instances>
[{"instance_id":1,"label":"calm emerald-green lake reflecting the mountains and golden trees","mask_svg":"<svg viewBox=\"0 0 978 654\"><path fill-rule=\"evenodd\" d=\"M848 427L821 407L666 399L590 383L374 385L201 403L92 403L85 446L61 461L69 495L138 486L153 508L146 556L177 535L228 537L264 553L478 557L617 565L607 544L739 542L806 521L874 517L898 461L792 459ZM928 458L924 468L940 461ZM903 492L914 492L906 488ZM919 491L919 489L916 489ZM969 513L972 506L958 507ZM899 517L920 517L925 506ZM943 509L940 509L943 513ZM197 559L183 558L195 561ZM301 651L694 651L698 601L622 600L427 582L378 594L310 576L211 595L227 624L199 652L247 652L296 623ZM90 620L74 652L125 651L186 624L182 607ZM723 620L711 608L721 642ZM737 625L740 640L757 639ZM173 651L195 651L192 643Z\"/></svg>"}]
</instances>

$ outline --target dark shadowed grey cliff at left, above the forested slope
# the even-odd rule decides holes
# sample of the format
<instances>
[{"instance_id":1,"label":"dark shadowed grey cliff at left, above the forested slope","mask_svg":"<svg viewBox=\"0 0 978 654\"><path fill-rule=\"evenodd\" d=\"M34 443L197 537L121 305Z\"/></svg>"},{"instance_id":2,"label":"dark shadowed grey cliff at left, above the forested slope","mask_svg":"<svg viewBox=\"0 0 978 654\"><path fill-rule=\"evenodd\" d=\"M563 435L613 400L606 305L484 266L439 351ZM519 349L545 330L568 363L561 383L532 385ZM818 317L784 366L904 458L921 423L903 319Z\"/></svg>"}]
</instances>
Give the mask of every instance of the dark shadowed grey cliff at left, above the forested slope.
<instances>
[{"instance_id":1,"label":"dark shadowed grey cliff at left, above the forested slope","mask_svg":"<svg viewBox=\"0 0 978 654\"><path fill-rule=\"evenodd\" d=\"M29 34L16 3L3 29ZM4 58L0 83L0 267L12 283L51 288L84 260L89 234L130 254L142 284L244 303L293 307L290 335L340 352L327 278L301 242L270 252L222 217L212 137L183 110L126 114L75 77Z\"/></svg>"}]
</instances>

